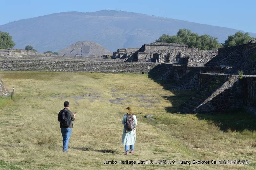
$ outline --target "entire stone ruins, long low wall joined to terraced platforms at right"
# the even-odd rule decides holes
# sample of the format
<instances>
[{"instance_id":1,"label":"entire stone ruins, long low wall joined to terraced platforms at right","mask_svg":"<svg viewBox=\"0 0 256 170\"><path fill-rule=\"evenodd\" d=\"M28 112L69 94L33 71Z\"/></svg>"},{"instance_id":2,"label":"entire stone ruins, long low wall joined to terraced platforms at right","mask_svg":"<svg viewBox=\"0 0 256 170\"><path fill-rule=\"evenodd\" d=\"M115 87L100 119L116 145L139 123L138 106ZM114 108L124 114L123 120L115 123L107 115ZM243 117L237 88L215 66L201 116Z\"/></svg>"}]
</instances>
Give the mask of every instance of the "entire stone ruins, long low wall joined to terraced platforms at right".
<instances>
[{"instance_id":1,"label":"entire stone ruins, long low wall joined to terraced platforms at right","mask_svg":"<svg viewBox=\"0 0 256 170\"><path fill-rule=\"evenodd\" d=\"M69 52L76 57L0 56L0 70L149 73L154 80L174 80L172 90L196 90L180 106L182 113L243 108L256 114L255 40L218 51L151 43L141 48L120 48L112 59L88 57L90 53L79 44L79 55L75 50Z\"/></svg>"}]
</instances>

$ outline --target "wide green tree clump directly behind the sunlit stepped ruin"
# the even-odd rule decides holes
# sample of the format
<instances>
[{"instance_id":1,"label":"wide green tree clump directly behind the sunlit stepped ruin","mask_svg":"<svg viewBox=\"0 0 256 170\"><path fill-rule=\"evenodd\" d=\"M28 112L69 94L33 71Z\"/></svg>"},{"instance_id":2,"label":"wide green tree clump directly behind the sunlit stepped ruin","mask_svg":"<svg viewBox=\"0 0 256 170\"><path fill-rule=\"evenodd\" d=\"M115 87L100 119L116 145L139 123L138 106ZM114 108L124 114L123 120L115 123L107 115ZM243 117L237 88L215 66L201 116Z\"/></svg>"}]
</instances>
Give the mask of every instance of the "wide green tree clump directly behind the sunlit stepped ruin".
<instances>
[{"instance_id":1,"label":"wide green tree clump directly behind the sunlit stepped ruin","mask_svg":"<svg viewBox=\"0 0 256 170\"><path fill-rule=\"evenodd\" d=\"M189 47L197 47L200 50L213 50L221 47L217 38L207 34L199 36L189 29L179 29L177 35L173 36L163 34L156 42L187 44Z\"/></svg>"}]
</instances>

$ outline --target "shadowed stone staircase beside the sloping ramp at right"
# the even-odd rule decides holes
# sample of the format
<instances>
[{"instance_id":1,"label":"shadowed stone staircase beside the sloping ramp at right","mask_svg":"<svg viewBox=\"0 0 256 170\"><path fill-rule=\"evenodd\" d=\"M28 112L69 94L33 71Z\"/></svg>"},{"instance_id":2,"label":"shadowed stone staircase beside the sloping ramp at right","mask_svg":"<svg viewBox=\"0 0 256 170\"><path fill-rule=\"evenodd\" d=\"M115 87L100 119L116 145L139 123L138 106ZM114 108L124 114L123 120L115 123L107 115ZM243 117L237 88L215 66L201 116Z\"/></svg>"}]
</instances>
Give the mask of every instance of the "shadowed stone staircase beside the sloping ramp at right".
<instances>
[{"instance_id":1,"label":"shadowed stone staircase beside the sloping ramp at right","mask_svg":"<svg viewBox=\"0 0 256 170\"><path fill-rule=\"evenodd\" d=\"M197 92L190 97L188 101L180 106L181 113L193 113L195 109L200 107L204 101L212 96L227 80L228 77L217 78L217 74L208 81L204 86L197 90Z\"/></svg>"}]
</instances>

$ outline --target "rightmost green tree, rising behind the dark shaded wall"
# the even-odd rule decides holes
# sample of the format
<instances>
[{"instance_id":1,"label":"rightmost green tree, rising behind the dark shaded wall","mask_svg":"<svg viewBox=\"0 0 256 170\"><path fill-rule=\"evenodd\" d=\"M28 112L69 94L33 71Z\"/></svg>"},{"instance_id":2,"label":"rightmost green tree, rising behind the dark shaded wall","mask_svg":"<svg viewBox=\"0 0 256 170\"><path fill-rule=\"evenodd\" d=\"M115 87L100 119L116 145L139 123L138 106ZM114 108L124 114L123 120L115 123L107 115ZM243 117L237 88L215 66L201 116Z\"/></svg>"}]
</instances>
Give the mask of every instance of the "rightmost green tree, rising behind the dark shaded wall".
<instances>
[{"instance_id":1,"label":"rightmost green tree, rising behind the dark shaded wall","mask_svg":"<svg viewBox=\"0 0 256 170\"><path fill-rule=\"evenodd\" d=\"M234 35L229 35L228 39L225 40L225 43L222 43L224 47L234 46L246 44L248 41L253 40L253 38L249 36L249 33L242 33L241 31L236 32Z\"/></svg>"}]
</instances>

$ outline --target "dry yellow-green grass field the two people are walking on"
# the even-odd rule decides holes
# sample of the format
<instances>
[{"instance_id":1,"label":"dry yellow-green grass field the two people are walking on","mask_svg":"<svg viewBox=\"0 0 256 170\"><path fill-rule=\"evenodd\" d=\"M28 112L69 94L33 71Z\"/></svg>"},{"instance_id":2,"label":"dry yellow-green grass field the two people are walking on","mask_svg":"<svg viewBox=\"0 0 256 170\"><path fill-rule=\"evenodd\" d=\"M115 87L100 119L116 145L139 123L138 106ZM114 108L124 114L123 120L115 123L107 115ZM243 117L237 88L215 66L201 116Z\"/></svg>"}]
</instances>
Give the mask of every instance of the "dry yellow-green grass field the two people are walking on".
<instances>
[{"instance_id":1,"label":"dry yellow-green grass field the two people are walking on","mask_svg":"<svg viewBox=\"0 0 256 170\"><path fill-rule=\"evenodd\" d=\"M6 71L0 77L9 91L15 87L13 100L0 98L0 169L256 168L255 115L239 110L179 114L179 105L192 92L171 91L171 84L154 82L147 74ZM62 152L57 121L66 100L77 112L68 154ZM135 153L125 156L121 121L127 106L133 107L138 125ZM144 118L146 114L154 119ZM103 164L105 160L136 164ZM192 160L250 163L197 165Z\"/></svg>"}]
</instances>

